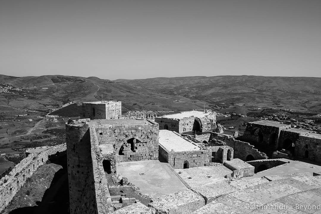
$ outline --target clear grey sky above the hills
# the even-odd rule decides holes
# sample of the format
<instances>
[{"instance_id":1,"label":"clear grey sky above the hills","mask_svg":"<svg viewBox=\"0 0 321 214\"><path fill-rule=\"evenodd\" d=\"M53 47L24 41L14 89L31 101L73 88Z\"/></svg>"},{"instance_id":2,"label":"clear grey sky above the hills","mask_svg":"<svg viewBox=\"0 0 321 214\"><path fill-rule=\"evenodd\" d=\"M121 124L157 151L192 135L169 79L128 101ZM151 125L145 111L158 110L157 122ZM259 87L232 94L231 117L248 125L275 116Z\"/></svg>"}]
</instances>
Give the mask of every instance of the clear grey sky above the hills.
<instances>
[{"instance_id":1,"label":"clear grey sky above the hills","mask_svg":"<svg viewBox=\"0 0 321 214\"><path fill-rule=\"evenodd\" d=\"M321 77L321 0L0 0L0 74Z\"/></svg>"}]
</instances>

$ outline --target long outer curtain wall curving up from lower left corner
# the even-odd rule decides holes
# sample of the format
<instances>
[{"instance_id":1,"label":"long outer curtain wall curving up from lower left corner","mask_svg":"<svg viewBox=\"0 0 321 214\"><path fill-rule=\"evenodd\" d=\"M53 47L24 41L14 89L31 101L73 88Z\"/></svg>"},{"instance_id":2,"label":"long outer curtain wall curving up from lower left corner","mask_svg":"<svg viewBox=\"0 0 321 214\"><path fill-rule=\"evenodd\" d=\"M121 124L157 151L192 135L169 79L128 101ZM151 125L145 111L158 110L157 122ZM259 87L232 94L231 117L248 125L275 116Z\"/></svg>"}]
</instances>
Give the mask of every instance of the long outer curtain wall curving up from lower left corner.
<instances>
[{"instance_id":1,"label":"long outer curtain wall curving up from lower left corner","mask_svg":"<svg viewBox=\"0 0 321 214\"><path fill-rule=\"evenodd\" d=\"M38 147L40 149L41 147ZM50 147L39 154L31 153L28 157L22 159L9 175L0 179L0 212L10 203L14 195L19 191L27 178L38 169L39 166L46 163L48 156L66 150L66 144Z\"/></svg>"}]
</instances>

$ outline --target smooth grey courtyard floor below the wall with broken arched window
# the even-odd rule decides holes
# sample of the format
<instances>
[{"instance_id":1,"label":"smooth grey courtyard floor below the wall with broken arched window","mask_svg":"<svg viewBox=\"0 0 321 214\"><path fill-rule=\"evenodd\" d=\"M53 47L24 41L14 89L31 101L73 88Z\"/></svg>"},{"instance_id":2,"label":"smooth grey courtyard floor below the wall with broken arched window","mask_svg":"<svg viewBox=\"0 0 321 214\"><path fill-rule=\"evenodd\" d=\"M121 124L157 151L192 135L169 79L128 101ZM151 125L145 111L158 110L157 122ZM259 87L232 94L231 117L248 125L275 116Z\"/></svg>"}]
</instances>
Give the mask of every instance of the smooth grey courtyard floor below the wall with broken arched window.
<instances>
[{"instance_id":1,"label":"smooth grey courtyard floor below the wall with broken arched window","mask_svg":"<svg viewBox=\"0 0 321 214\"><path fill-rule=\"evenodd\" d=\"M130 183L140 188L141 193L153 197L187 190L167 164L159 160L117 163L117 174L127 177Z\"/></svg>"}]
</instances>

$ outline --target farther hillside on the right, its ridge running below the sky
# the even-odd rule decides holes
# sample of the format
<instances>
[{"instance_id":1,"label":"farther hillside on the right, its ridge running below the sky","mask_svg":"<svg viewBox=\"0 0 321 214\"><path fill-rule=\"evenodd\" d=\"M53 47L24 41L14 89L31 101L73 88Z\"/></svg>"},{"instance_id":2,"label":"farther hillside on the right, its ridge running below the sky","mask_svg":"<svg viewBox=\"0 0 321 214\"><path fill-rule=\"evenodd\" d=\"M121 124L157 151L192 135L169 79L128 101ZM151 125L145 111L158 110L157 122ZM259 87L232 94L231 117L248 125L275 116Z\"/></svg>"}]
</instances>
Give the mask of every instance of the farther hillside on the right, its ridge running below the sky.
<instances>
[{"instance_id":1,"label":"farther hillside on the right, its ridge running below the sky","mask_svg":"<svg viewBox=\"0 0 321 214\"><path fill-rule=\"evenodd\" d=\"M115 81L221 106L321 112L321 78L315 77L195 76Z\"/></svg>"}]
</instances>

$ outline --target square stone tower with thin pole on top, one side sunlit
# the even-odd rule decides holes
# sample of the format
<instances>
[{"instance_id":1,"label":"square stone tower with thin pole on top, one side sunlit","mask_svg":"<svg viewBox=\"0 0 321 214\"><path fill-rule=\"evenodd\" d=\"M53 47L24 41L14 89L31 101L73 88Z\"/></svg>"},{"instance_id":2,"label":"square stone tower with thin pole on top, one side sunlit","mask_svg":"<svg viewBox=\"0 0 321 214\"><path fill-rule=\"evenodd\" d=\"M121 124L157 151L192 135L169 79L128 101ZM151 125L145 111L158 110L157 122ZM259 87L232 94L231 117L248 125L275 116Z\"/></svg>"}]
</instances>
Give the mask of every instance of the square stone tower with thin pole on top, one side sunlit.
<instances>
[{"instance_id":1,"label":"square stone tower with thin pole on top, one side sunlit","mask_svg":"<svg viewBox=\"0 0 321 214\"><path fill-rule=\"evenodd\" d=\"M119 119L121 118L121 101L95 101L82 103L82 118Z\"/></svg>"}]
</instances>

